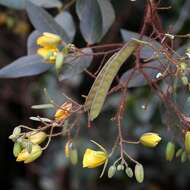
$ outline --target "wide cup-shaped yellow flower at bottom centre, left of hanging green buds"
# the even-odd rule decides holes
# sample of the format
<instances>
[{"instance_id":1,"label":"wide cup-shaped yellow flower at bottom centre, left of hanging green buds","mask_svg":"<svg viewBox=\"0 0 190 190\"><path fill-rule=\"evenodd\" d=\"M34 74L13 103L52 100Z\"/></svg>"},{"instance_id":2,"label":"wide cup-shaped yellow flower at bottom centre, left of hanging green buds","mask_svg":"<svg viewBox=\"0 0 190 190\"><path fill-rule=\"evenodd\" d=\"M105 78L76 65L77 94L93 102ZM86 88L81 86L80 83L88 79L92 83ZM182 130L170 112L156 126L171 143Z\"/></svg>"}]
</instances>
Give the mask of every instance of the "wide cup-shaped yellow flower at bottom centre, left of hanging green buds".
<instances>
[{"instance_id":1,"label":"wide cup-shaped yellow flower at bottom centre, left of hanging green buds","mask_svg":"<svg viewBox=\"0 0 190 190\"><path fill-rule=\"evenodd\" d=\"M108 159L108 155L104 151L94 151L86 149L83 157L83 168L96 168L104 164Z\"/></svg>"}]
</instances>

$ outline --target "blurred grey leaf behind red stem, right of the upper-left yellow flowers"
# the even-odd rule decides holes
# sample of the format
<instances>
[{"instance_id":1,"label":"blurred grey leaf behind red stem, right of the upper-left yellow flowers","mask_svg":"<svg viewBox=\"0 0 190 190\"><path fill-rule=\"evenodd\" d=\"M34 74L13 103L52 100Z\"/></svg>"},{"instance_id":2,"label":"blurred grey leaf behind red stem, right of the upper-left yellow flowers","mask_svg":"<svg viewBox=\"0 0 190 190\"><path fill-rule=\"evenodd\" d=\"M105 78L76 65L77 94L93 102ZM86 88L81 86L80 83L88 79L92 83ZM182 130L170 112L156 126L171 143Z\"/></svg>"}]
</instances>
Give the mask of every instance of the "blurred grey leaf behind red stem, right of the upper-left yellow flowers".
<instances>
[{"instance_id":1,"label":"blurred grey leaf behind red stem, right of the upper-left yellow flowers","mask_svg":"<svg viewBox=\"0 0 190 190\"><path fill-rule=\"evenodd\" d=\"M59 73L59 80L65 80L83 72L92 62L93 56L91 55L92 50L85 48L82 50L83 53L76 57L76 55L68 55L64 59L62 69Z\"/></svg>"}]
</instances>

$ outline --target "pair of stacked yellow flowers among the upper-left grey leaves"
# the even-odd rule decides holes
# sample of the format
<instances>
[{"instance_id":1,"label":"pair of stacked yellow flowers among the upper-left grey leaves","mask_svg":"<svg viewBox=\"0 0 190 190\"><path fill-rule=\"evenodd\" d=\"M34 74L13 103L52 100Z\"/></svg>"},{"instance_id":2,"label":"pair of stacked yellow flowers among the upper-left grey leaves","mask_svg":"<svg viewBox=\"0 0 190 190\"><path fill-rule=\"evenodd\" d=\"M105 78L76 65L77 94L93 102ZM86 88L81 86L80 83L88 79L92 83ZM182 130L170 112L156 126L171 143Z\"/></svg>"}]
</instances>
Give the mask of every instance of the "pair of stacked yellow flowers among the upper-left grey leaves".
<instances>
[{"instance_id":1,"label":"pair of stacked yellow flowers among the upper-left grey leaves","mask_svg":"<svg viewBox=\"0 0 190 190\"><path fill-rule=\"evenodd\" d=\"M44 32L42 36L37 39L37 45L42 46L37 50L37 54L47 60L48 63L54 64L56 61L58 45L61 44L60 36L48 32Z\"/></svg>"}]
</instances>

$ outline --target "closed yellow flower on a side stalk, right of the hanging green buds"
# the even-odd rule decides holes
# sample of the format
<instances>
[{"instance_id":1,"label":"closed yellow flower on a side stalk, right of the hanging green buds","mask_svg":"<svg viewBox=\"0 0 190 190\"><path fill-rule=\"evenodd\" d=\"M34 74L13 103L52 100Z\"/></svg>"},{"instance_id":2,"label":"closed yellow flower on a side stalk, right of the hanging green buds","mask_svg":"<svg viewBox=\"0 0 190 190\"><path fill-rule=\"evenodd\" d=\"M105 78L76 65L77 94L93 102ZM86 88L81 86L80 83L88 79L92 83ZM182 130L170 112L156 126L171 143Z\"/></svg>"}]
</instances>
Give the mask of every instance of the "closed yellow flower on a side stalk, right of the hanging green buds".
<instances>
[{"instance_id":1,"label":"closed yellow flower on a side stalk, right of the hanging green buds","mask_svg":"<svg viewBox=\"0 0 190 190\"><path fill-rule=\"evenodd\" d=\"M140 143L147 147L155 147L161 141L157 133L144 133L140 137Z\"/></svg>"}]
</instances>

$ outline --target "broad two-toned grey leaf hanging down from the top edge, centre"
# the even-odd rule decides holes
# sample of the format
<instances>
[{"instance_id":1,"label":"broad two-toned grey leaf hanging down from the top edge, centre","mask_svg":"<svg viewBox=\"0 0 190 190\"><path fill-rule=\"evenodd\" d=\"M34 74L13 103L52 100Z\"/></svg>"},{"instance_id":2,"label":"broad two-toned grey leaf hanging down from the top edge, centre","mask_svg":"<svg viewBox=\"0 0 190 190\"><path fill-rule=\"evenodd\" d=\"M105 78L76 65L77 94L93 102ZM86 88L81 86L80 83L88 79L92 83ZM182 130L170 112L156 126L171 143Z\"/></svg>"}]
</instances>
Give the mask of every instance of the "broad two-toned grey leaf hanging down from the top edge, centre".
<instances>
[{"instance_id":1,"label":"broad two-toned grey leaf hanging down from the top edge, centre","mask_svg":"<svg viewBox=\"0 0 190 190\"><path fill-rule=\"evenodd\" d=\"M86 42L99 42L115 19L114 9L108 0L77 0L76 12Z\"/></svg>"}]
</instances>

